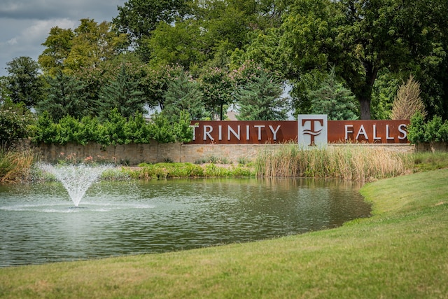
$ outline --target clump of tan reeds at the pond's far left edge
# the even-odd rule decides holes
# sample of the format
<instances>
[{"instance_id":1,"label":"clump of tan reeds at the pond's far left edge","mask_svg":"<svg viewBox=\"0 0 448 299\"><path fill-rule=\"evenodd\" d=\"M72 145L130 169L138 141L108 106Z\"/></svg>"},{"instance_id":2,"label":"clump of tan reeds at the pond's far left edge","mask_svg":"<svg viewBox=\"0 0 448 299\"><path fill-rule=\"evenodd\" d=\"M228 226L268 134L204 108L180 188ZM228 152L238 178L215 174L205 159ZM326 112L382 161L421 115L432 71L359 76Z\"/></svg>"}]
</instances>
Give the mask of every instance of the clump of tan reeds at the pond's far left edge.
<instances>
[{"instance_id":1,"label":"clump of tan reeds at the pond's far left edge","mask_svg":"<svg viewBox=\"0 0 448 299\"><path fill-rule=\"evenodd\" d=\"M27 151L0 151L0 183L27 181L36 153Z\"/></svg>"}]
</instances>

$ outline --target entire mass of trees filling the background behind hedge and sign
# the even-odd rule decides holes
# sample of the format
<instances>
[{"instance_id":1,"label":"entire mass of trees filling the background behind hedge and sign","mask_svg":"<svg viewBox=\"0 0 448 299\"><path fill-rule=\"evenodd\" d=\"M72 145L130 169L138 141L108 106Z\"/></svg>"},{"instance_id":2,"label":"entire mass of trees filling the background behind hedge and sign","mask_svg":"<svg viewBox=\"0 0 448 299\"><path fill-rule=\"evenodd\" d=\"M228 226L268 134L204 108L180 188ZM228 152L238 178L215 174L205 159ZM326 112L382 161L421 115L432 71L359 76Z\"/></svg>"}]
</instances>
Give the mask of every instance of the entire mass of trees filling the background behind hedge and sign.
<instances>
[{"instance_id":1,"label":"entire mass of trees filling the background behind hedge and sign","mask_svg":"<svg viewBox=\"0 0 448 299\"><path fill-rule=\"evenodd\" d=\"M127 0L111 22L50 29L37 62L8 63L1 99L54 121L151 108L160 127L186 111L225 119L232 105L241 119L388 118L412 75L428 118L447 119L447 11L447 0Z\"/></svg>"}]
</instances>

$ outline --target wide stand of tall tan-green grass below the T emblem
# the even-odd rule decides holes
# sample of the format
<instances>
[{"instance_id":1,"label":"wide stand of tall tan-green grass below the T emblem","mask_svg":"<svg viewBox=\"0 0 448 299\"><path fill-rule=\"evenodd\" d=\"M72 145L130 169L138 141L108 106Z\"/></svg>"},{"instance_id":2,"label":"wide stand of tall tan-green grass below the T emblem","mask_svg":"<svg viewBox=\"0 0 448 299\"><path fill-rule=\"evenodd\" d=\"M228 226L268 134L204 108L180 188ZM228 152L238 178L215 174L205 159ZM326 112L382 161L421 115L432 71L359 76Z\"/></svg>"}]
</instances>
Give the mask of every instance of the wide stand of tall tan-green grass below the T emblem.
<instances>
[{"instance_id":1,"label":"wide stand of tall tan-green grass below the T emblem","mask_svg":"<svg viewBox=\"0 0 448 299\"><path fill-rule=\"evenodd\" d=\"M365 145L303 148L297 144L265 150L255 160L258 176L296 176L374 181L413 169L412 157Z\"/></svg>"}]
</instances>

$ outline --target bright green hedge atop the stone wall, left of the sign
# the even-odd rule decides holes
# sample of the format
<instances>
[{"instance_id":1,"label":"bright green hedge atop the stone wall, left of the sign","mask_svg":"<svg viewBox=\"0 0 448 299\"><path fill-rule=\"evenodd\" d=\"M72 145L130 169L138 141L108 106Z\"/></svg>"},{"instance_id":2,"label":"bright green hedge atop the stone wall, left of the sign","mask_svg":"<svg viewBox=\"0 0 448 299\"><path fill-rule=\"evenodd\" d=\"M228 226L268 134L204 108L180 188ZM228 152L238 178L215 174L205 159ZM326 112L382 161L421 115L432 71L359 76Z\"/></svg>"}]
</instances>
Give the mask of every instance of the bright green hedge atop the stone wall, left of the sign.
<instances>
[{"instance_id":1,"label":"bright green hedge atop the stone wall, left of the sign","mask_svg":"<svg viewBox=\"0 0 448 299\"><path fill-rule=\"evenodd\" d=\"M151 140L161 143L188 142L193 139L190 116L182 111L177 123L171 123L162 114L146 122L141 113L125 118L118 109L109 112L102 122L98 118L64 116L55 122L48 112L38 116L34 126L33 140L36 144L97 143L102 146L118 144L148 144Z\"/></svg>"}]
</instances>

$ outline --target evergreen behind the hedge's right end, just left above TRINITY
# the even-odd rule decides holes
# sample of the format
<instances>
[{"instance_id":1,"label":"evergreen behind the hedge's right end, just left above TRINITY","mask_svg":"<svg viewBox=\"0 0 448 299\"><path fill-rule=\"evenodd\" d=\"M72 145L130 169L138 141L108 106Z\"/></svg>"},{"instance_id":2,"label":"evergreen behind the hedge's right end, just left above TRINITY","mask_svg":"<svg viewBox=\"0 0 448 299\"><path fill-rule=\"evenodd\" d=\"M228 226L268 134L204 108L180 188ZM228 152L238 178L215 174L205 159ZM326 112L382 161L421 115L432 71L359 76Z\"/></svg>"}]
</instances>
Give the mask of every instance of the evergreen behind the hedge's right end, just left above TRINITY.
<instances>
[{"instance_id":1,"label":"evergreen behind the hedge's right end, just left above TRINITY","mask_svg":"<svg viewBox=\"0 0 448 299\"><path fill-rule=\"evenodd\" d=\"M188 111L191 120L202 120L206 116L202 102L203 94L197 83L186 72L182 72L168 83L164 98L163 111L168 116L177 118L181 111Z\"/></svg>"}]
</instances>

